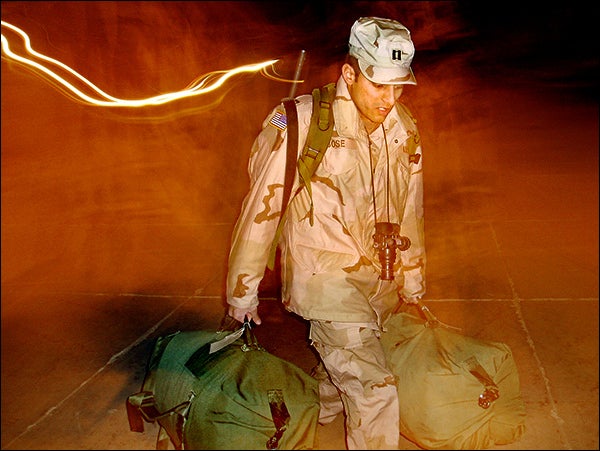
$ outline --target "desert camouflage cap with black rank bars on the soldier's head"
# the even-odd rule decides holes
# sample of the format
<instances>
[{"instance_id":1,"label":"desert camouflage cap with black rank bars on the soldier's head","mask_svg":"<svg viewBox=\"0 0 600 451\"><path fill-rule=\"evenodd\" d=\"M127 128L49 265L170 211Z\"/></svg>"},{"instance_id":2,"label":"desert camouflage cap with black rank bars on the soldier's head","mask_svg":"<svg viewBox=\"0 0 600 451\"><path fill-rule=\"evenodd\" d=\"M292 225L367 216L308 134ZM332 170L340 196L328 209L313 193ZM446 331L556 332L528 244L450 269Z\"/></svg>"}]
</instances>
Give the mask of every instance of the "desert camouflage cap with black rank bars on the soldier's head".
<instances>
[{"instance_id":1,"label":"desert camouflage cap with black rank bars on the soldier's head","mask_svg":"<svg viewBox=\"0 0 600 451\"><path fill-rule=\"evenodd\" d=\"M415 46L410 31L400 22L361 17L352 25L348 44L362 74L373 83L417 84L410 68Z\"/></svg>"}]
</instances>

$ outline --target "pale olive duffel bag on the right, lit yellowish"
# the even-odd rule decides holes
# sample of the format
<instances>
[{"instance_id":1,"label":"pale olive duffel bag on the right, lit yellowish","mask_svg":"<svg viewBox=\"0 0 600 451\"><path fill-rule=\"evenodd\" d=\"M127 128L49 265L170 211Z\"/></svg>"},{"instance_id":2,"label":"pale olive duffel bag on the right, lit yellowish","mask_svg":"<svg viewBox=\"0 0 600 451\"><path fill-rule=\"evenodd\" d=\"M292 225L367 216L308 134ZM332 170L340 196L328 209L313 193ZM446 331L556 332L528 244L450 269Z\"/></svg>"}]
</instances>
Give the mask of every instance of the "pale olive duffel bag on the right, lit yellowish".
<instances>
[{"instance_id":1,"label":"pale olive duffel bag on the right, lit yellowish","mask_svg":"<svg viewBox=\"0 0 600 451\"><path fill-rule=\"evenodd\" d=\"M423 304L381 336L397 378L400 432L425 449L485 449L525 431L519 373L505 343L468 337Z\"/></svg>"}]
</instances>

